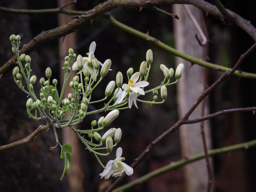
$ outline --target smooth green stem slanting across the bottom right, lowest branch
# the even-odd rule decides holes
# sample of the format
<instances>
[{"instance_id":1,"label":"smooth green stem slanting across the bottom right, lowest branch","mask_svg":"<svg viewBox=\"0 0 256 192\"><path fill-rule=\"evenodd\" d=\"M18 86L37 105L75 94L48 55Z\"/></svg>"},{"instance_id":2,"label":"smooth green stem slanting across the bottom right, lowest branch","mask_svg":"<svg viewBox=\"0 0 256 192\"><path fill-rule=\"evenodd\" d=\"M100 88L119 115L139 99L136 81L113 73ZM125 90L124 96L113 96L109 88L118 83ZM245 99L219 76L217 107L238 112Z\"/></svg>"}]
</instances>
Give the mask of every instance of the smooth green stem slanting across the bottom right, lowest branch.
<instances>
[{"instance_id":1,"label":"smooth green stem slanting across the bottom right, lowest branch","mask_svg":"<svg viewBox=\"0 0 256 192\"><path fill-rule=\"evenodd\" d=\"M219 155L219 154L226 154L226 153L234 152L234 151L237 151L237 150L247 150L248 148L251 148L251 147L256 147L256 140L248 141L248 142L240 143L240 144L236 144L236 145L231 145L231 146L228 146L228 147L222 147L222 148L218 148L218 149L214 149L214 150L209 150L208 154L209 154L209 156L216 156L216 155ZM179 167L182 167L186 164L192 163L194 161L198 161L198 160L203 159L203 158L204 158L204 153L201 153L201 154L197 154L195 156L191 156L191 157L186 158L186 159L182 159L180 161L173 162L173 163L171 163L169 165L166 165L164 167L161 167L161 168L159 168L159 169L157 169L153 172L145 174L144 176L141 176L138 179L135 179L134 181L131 181L130 183L122 185L121 187L116 188L112 192L119 192L119 191L128 190L130 188L135 187L136 185L139 185L141 183L144 183L145 181L148 181L149 179L151 179L151 178L153 178L157 175L163 174L163 173L168 172L170 170L176 170Z\"/></svg>"}]
</instances>

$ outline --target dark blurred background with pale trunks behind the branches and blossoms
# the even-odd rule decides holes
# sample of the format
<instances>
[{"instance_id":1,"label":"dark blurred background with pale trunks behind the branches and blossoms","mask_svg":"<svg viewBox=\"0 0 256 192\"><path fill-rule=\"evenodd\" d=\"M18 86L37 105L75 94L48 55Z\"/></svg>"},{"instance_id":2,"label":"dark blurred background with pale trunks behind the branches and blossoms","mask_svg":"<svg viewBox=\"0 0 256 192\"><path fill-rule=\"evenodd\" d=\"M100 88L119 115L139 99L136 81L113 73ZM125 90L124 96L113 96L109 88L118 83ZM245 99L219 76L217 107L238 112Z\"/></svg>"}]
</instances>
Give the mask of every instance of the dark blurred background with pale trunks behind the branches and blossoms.
<instances>
[{"instance_id":1,"label":"dark blurred background with pale trunks behind the branches and blossoms","mask_svg":"<svg viewBox=\"0 0 256 192\"><path fill-rule=\"evenodd\" d=\"M0 6L15 9L49 9L61 7L67 2L69 1L12 0L0 1ZM66 7L66 9L90 10L102 2L104 1L78 0L76 4ZM223 0L222 2L225 7L250 20L254 26L256 25L255 7L251 5L251 1L245 0L241 3ZM199 52L201 56L198 57L204 59L204 49L202 47L197 45L199 48L195 49L195 47L190 47L193 42L180 42L186 34L191 32L194 36L196 31L189 27L191 24L189 18L179 12L182 7L175 6L160 8L171 13L180 13L180 15L178 14L180 20L176 21L150 9L139 11L137 8L121 7L114 9L111 13L117 20L130 27L149 33L150 36L165 42L171 47L176 47L180 51L183 50L191 56ZM192 7L191 10L198 11ZM196 12L195 15L200 18L200 11ZM205 16L205 13L203 15ZM0 12L0 66L13 56L11 43L9 42L11 34L20 34L22 47L40 32L65 25L70 21L70 16L57 13L16 15ZM201 23L202 19L198 21ZM253 40L236 26L224 25L211 15L205 17L205 22L209 33L208 56L211 63L232 67L240 55L254 44ZM180 25L183 29L180 28ZM180 33L179 30L182 30L183 33ZM152 49L154 54L149 88L159 85L164 78L162 71L159 69L160 64L175 68L178 63L183 62L175 60L173 54L160 49L152 42L132 36L111 25L106 18L99 17L94 19L92 23L88 22L74 33L65 36L64 39L49 40L38 46L35 51L29 54L32 59L33 74L38 79L45 77L45 69L50 67L54 78L61 82L63 74L60 69L68 49L71 47L77 55L85 56L92 41L97 43L95 51L97 59L104 62L110 58L112 60L111 69L114 71L108 73L103 83L94 92L94 100L102 98L106 85L110 80L115 80L115 74L118 71L126 74L130 67L138 71L140 63L146 58L148 49ZM195 38L191 41L197 42ZM190 50L192 52L189 52ZM255 61L256 54L254 51L245 59L240 67L241 70L256 73ZM119 118L110 125L110 127L120 127L122 129L122 140L118 146L123 148L123 156L126 157L128 165L139 156L151 141L171 127L200 94L198 90L202 89L203 86L204 68L185 63L185 61L184 64L186 64L186 73L182 76L184 81L179 82L183 87L176 87L176 85L168 87L168 98L163 105L139 103L139 109L133 106L130 110L121 111ZM221 72L209 69L207 84L211 85L221 74ZM187 84L186 81L189 81L190 84ZM177 86L180 86L178 84ZM254 79L238 78L237 76L228 78L207 97L206 112L213 113L223 109L255 106L255 85ZM35 85L34 89L39 91L39 83L37 86ZM151 100L152 98L153 96L148 94L144 97L144 100ZM16 86L12 73L9 72L0 80L0 145L25 138L39 125L45 125L44 121L36 122L28 118L25 107L26 101L25 94ZM89 109L94 110L103 105L103 103L91 105ZM198 113L199 115L194 114L194 117L200 117L200 112ZM106 116L106 114L88 116L78 128L86 127L92 120L98 120L100 116ZM213 118L206 123L208 147L218 148L253 140L256 137L255 125L256 119L252 112L232 113ZM194 129L182 127L179 131L166 137L140 163L134 174L126 177L124 183L137 179L139 176L173 161L191 156L194 148L202 152L200 129L198 129L200 124L193 126ZM101 132L101 134L104 132ZM60 178L64 161L60 159L60 149L58 147L49 151L49 147L56 144L54 133L49 130L41 132L33 143L0 152L0 191L96 192L103 191L115 180L115 178L108 181L100 179L99 173L103 171L102 167L79 141L74 140L72 132L58 130L58 134L59 137L62 137L61 142L70 143L74 150L71 155L71 168L62 181L60 181ZM191 150L186 151L188 146L191 147ZM110 159L115 159L116 149L113 150L110 156L101 157L103 164L106 164ZM212 158L213 191L255 191L255 153L255 149L248 149ZM196 174L193 169L191 171L191 167L194 165L196 167L194 170L200 170L199 172L205 174ZM206 186L207 172L205 161L202 160L199 164L192 163L150 179L130 191L205 191Z\"/></svg>"}]
</instances>

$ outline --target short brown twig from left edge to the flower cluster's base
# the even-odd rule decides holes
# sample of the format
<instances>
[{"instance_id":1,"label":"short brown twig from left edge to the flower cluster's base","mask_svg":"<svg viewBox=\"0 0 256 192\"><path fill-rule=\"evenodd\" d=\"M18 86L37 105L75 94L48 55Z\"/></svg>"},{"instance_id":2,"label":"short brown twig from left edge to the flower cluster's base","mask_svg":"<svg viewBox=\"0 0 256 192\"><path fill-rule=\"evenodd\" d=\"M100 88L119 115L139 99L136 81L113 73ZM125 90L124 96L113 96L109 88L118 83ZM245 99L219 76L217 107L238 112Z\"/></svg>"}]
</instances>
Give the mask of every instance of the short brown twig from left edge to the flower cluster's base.
<instances>
[{"instance_id":1,"label":"short brown twig from left edge to the flower cluster's base","mask_svg":"<svg viewBox=\"0 0 256 192\"><path fill-rule=\"evenodd\" d=\"M42 131L45 131L45 130L48 130L50 127L49 127L49 124L47 123L47 125L40 125L33 133L31 133L29 136L27 136L26 138L23 138L21 139L20 141L15 141L13 143L10 143L10 144L7 144L7 145L2 145L0 146L0 152L1 151L5 151L5 150L9 150L9 149L12 149L14 147L18 147L20 145L24 145L24 144L27 144L27 143L32 143L36 136L42 132Z\"/></svg>"}]
</instances>

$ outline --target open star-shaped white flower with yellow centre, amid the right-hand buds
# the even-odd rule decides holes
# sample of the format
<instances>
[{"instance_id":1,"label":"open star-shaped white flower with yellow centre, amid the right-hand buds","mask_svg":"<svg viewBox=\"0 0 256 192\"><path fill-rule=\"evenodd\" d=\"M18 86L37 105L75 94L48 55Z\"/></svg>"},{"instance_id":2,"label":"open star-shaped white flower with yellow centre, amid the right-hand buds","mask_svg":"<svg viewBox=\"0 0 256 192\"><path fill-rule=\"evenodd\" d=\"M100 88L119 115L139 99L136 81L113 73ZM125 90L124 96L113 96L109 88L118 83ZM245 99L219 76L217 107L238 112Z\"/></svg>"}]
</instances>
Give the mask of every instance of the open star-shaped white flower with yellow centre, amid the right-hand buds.
<instances>
[{"instance_id":1,"label":"open star-shaped white flower with yellow centre, amid the right-hand buds","mask_svg":"<svg viewBox=\"0 0 256 192\"><path fill-rule=\"evenodd\" d=\"M119 95L119 97L117 98L117 101L114 103L121 103L122 100L124 100L124 98L126 97L127 94L129 94L129 101L128 101L128 106L129 108L132 107L132 102L134 103L135 107L138 108L137 103L136 103L136 99L138 94L141 95L145 95L145 92L143 89L141 89L140 87L146 87L148 86L148 82L147 81L139 81L137 83L139 79L139 72L136 72L135 74L133 74L127 84L124 84L122 86L122 89L124 89L124 91Z\"/></svg>"}]
</instances>

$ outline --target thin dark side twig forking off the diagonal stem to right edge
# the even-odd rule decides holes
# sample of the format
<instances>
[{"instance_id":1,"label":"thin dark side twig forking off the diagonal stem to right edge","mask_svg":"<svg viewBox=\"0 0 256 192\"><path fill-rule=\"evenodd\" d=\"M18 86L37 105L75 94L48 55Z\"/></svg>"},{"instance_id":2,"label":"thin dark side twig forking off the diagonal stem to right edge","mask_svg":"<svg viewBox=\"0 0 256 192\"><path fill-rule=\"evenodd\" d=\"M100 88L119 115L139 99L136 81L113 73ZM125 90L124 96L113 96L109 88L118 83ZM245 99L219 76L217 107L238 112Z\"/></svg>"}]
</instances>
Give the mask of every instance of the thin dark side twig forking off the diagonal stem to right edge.
<instances>
[{"instance_id":1,"label":"thin dark side twig forking off the diagonal stem to right edge","mask_svg":"<svg viewBox=\"0 0 256 192\"><path fill-rule=\"evenodd\" d=\"M255 111L256 111L256 107L225 109L225 110L222 110L222 111L219 111L219 112L216 112L213 114L209 114L209 115L206 115L206 116L203 116L200 118L195 118L195 119L191 119L191 120L188 119L188 120L184 121L183 123L184 124L198 123L198 122L205 121L205 120L217 117L217 116L221 116L221 115L229 114L229 113L235 113L235 112L253 112L253 114L254 114Z\"/></svg>"}]
</instances>

